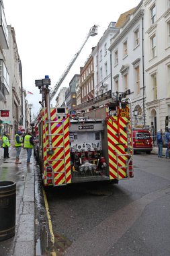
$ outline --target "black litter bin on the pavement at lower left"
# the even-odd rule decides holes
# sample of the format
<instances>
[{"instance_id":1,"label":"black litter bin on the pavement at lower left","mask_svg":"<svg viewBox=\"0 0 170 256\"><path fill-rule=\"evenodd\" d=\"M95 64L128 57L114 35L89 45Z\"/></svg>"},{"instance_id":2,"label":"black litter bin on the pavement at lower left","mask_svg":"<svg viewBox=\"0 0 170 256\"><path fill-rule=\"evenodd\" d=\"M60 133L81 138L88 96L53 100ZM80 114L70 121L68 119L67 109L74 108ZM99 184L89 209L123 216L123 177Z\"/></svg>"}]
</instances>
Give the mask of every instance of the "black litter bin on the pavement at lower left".
<instances>
[{"instance_id":1,"label":"black litter bin on the pavement at lower left","mask_svg":"<svg viewBox=\"0 0 170 256\"><path fill-rule=\"evenodd\" d=\"M16 183L0 181L0 241L15 235Z\"/></svg>"}]
</instances>

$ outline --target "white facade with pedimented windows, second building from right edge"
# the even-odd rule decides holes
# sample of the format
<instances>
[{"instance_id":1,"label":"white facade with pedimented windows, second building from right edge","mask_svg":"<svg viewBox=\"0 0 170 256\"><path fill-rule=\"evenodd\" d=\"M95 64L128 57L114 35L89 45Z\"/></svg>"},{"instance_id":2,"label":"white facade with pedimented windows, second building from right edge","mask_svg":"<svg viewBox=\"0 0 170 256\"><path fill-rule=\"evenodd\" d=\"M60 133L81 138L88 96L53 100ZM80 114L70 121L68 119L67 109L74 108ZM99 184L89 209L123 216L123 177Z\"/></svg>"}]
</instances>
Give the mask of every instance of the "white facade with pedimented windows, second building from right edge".
<instances>
[{"instance_id":1,"label":"white facade with pedimented windows, second building from right edge","mask_svg":"<svg viewBox=\"0 0 170 256\"><path fill-rule=\"evenodd\" d=\"M128 15L109 48L112 54L112 92L129 92L132 100L133 125L146 125L143 68L143 19L142 3Z\"/></svg>"}]
</instances>

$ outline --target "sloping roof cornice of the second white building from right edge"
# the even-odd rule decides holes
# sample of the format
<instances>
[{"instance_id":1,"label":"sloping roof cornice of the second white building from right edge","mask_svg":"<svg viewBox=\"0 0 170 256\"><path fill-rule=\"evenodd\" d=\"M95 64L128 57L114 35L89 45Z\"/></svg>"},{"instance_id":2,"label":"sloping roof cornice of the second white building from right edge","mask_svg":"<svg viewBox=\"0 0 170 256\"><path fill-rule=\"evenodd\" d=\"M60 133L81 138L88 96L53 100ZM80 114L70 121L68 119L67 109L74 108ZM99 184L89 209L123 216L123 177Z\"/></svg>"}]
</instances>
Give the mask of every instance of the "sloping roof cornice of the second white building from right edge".
<instances>
[{"instance_id":1,"label":"sloping roof cornice of the second white building from right edge","mask_svg":"<svg viewBox=\"0 0 170 256\"><path fill-rule=\"evenodd\" d=\"M126 27L124 27L124 30L119 33L116 34L116 36L114 36L114 42L111 44L110 48L108 49L109 51L112 51L112 49L120 42L120 40L122 40L122 38L124 38L124 36L126 36L126 34L128 34L129 30L134 26L134 24L136 24L136 22L138 22L138 20L140 20L140 18L144 15L144 9L140 9L140 11L138 11L138 13L134 14L134 18L132 18L132 20L126 24Z\"/></svg>"}]
</instances>

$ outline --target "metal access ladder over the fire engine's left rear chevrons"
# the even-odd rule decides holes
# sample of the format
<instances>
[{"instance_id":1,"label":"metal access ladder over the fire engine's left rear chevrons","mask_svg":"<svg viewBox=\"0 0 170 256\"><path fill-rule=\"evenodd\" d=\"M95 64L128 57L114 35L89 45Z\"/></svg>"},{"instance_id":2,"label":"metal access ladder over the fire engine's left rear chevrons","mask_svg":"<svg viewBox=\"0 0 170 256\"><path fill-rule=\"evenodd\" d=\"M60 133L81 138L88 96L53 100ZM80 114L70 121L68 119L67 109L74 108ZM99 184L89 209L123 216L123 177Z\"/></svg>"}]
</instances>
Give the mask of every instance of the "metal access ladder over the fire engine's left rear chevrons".
<instances>
[{"instance_id":1,"label":"metal access ladder over the fire engine's left rear chevrons","mask_svg":"<svg viewBox=\"0 0 170 256\"><path fill-rule=\"evenodd\" d=\"M64 134L64 123L62 122L62 120L60 120L60 121L45 121L44 122L44 125L46 126L46 124L48 125L48 123L56 123L56 124L58 124L58 123L60 123L61 125L62 125L62 133L52 133L52 134L46 134L45 133L45 137L46 137L46 142L48 141L48 139L47 139L47 137L49 136L49 135L52 135L52 136L62 136L62 145L63 146L57 146L57 147L54 147L54 146L52 146L52 149L53 150L57 150L57 149L60 149L60 148L62 148L63 149L63 158L55 158L55 159L48 159L48 158L46 158L47 159L47 162L48 162L48 164L50 165L50 166L52 166L52 162L59 162L59 161L63 161L63 163L65 164L65 134ZM47 154L48 154L48 150L50 149L50 147L47 145L47 143L46 143L46 152L47 152ZM52 170L53 170L53 167L52 167ZM60 171L60 172L57 172L57 174L62 174L62 173L64 173L65 174L65 183L64 184L60 184L60 186L63 186L63 185L67 185L67 177L66 177L66 165L65 165L65 168L64 168L64 170L63 171ZM52 171L52 181L53 181L53 185L55 186L55 184L54 184L54 170ZM58 186L59 184L57 184L57 186Z\"/></svg>"}]
</instances>

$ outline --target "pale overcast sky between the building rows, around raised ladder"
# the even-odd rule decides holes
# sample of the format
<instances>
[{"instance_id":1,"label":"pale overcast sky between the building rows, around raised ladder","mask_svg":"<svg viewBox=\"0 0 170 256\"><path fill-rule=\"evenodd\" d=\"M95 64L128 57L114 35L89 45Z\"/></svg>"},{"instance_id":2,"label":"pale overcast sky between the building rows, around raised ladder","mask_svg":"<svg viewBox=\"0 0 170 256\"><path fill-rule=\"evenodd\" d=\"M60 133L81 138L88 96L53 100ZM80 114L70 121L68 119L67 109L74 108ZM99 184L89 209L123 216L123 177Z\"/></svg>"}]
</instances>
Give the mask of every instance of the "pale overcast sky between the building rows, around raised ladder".
<instances>
[{"instance_id":1,"label":"pale overcast sky between the building rows, around raised ladder","mask_svg":"<svg viewBox=\"0 0 170 256\"><path fill-rule=\"evenodd\" d=\"M60 86L69 87L69 82L80 72L91 48L97 44L110 22L116 22L121 13L138 3L140 0L3 0L7 24L15 29L22 61L23 86L26 92L34 93L27 96L28 102L33 104L32 113L38 112L38 101L41 100L35 80L49 75L51 88L54 88L90 28L98 25L98 35L89 38Z\"/></svg>"}]
</instances>

